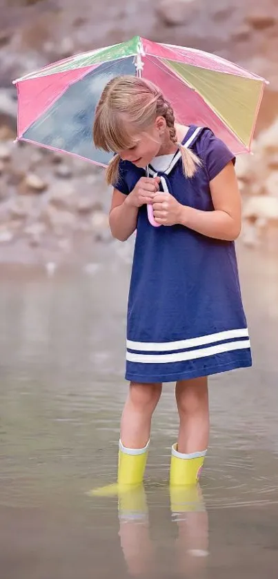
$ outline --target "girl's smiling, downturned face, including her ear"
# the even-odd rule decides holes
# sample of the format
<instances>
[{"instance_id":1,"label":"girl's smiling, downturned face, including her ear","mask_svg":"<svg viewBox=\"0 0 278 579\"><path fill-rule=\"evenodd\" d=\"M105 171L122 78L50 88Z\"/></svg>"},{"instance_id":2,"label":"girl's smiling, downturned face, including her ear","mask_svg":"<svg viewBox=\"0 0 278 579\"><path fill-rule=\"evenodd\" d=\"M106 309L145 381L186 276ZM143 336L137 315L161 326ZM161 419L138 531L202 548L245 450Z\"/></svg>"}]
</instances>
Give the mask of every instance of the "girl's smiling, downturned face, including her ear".
<instances>
[{"instance_id":1,"label":"girl's smiling, downturned face, including her ear","mask_svg":"<svg viewBox=\"0 0 278 579\"><path fill-rule=\"evenodd\" d=\"M130 128L130 136L134 137L135 145L128 149L117 151L123 161L131 161L135 166L145 168L159 154L165 141L166 122L163 117L157 117L155 123L142 133L136 133Z\"/></svg>"}]
</instances>

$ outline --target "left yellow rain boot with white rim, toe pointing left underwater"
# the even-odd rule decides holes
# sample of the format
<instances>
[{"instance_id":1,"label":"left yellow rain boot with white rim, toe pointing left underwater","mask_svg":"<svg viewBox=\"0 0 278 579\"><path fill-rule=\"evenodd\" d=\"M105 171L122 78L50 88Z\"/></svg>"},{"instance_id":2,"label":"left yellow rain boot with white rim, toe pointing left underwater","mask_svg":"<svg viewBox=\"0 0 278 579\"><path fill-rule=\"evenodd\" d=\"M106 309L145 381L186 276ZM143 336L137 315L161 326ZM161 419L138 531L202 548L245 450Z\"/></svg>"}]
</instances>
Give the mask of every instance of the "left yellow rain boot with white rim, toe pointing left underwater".
<instances>
[{"instance_id":1,"label":"left yellow rain boot with white rim, toe pointing left underwater","mask_svg":"<svg viewBox=\"0 0 278 579\"><path fill-rule=\"evenodd\" d=\"M136 486L143 482L143 475L148 458L148 444L143 449L127 449L119 442L118 481L108 484L107 487L90 491L90 495L113 496L119 491L123 493L130 486Z\"/></svg>"}]
</instances>

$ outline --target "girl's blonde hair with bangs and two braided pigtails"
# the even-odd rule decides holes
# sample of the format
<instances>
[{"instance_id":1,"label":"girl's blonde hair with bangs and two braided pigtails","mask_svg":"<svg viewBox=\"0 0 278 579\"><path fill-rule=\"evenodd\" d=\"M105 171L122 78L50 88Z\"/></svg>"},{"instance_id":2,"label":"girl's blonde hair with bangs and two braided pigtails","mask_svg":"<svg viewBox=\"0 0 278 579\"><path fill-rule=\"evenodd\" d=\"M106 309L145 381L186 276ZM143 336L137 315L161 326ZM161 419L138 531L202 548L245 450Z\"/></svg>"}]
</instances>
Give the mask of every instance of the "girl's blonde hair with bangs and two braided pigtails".
<instances>
[{"instance_id":1,"label":"girl's blonde hair with bangs and two braided pigtails","mask_svg":"<svg viewBox=\"0 0 278 579\"><path fill-rule=\"evenodd\" d=\"M157 117L164 117L170 140L181 151L184 174L186 177L195 175L201 160L192 150L178 143L172 105L155 84L132 75L115 77L106 84L95 110L93 140L97 148L115 152L135 146L136 140L130 137L124 117L138 132L147 130ZM114 155L108 165L108 184L117 182L120 158L119 154Z\"/></svg>"}]
</instances>

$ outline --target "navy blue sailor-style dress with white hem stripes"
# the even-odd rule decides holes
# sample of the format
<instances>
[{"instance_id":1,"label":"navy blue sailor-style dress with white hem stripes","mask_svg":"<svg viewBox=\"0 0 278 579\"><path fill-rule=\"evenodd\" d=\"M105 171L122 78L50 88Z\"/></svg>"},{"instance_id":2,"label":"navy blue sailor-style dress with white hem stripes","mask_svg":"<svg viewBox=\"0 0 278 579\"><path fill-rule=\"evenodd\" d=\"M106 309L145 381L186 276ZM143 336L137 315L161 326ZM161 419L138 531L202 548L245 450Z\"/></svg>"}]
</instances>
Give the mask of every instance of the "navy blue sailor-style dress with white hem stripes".
<instances>
[{"instance_id":1,"label":"navy blue sailor-style dress with white hem stripes","mask_svg":"<svg viewBox=\"0 0 278 579\"><path fill-rule=\"evenodd\" d=\"M183 175L178 152L158 173L161 190L181 204L213 210L210 181L235 162L208 128L190 126L183 139L202 160L195 177ZM152 166L150 175L155 175ZM146 175L120 161L115 187L128 195ZM153 227L139 209L127 320L126 380L172 382L251 366L235 243L181 225Z\"/></svg>"}]
</instances>

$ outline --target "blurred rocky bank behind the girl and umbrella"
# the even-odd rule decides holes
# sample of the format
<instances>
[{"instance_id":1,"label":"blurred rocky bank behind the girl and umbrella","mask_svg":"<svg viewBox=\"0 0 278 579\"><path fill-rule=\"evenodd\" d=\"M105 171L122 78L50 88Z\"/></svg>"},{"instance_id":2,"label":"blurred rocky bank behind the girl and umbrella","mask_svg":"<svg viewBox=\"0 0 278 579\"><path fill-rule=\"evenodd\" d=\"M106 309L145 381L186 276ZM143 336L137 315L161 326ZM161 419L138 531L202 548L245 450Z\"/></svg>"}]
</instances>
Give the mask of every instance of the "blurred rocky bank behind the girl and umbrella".
<instances>
[{"instance_id":1,"label":"blurred rocky bank behind the girl and umbrella","mask_svg":"<svg viewBox=\"0 0 278 579\"><path fill-rule=\"evenodd\" d=\"M239 244L278 242L278 0L0 0L0 262L90 261L114 244L103 170L17 143L15 79L73 53L134 35L201 48L266 77L253 155L237 173L244 200Z\"/></svg>"}]
</instances>

